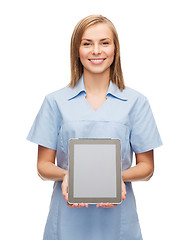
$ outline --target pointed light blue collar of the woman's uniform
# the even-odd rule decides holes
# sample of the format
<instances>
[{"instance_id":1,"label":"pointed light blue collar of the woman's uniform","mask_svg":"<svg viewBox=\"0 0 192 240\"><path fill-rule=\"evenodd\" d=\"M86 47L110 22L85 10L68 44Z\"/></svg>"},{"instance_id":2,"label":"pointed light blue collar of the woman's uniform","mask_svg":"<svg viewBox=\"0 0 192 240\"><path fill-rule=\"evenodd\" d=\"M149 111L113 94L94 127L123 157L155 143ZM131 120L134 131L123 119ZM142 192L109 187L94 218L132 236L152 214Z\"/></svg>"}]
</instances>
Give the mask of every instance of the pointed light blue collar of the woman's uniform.
<instances>
[{"instance_id":1,"label":"pointed light blue collar of the woman's uniform","mask_svg":"<svg viewBox=\"0 0 192 240\"><path fill-rule=\"evenodd\" d=\"M85 92L85 85L84 85L84 79L83 79L83 75L80 77L80 79L78 80L77 85L74 88L70 88L70 94L68 97L68 100L71 100L75 97L77 97L81 92ZM116 84L112 83L112 81L110 81L109 83L109 88L107 91L107 95L111 95L117 99L123 100L123 101L127 101L128 100L128 96L127 93L123 90L121 91Z\"/></svg>"}]
</instances>

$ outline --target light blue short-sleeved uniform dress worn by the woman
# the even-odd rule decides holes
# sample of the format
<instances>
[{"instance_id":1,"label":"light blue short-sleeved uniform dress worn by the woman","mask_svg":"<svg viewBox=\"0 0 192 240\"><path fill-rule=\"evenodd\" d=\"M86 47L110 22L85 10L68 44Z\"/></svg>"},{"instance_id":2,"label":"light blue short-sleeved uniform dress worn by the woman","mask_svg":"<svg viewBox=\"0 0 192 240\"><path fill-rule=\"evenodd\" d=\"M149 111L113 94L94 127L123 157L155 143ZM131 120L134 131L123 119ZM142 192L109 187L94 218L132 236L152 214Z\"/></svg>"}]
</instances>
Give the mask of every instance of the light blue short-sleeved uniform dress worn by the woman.
<instances>
[{"instance_id":1,"label":"light blue short-sleeved uniform dress worn by the woman","mask_svg":"<svg viewBox=\"0 0 192 240\"><path fill-rule=\"evenodd\" d=\"M27 137L56 150L59 167L68 169L70 138L120 139L122 170L131 167L133 152L162 145L149 102L141 93L129 87L120 91L110 81L107 99L96 111L85 96L83 75L74 88L66 86L47 95ZM43 239L142 240L132 186L125 184L126 200L116 207L70 208L61 182L55 182Z\"/></svg>"}]
</instances>

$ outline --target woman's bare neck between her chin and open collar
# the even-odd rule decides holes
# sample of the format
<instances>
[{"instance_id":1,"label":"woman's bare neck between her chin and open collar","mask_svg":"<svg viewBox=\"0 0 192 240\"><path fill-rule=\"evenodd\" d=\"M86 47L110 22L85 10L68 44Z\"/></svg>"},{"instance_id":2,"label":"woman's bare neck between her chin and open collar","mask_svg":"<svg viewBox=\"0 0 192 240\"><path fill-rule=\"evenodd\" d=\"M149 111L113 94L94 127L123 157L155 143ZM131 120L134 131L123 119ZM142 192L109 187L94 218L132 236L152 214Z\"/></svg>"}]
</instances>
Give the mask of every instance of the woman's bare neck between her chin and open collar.
<instances>
[{"instance_id":1,"label":"woman's bare neck between her chin and open collar","mask_svg":"<svg viewBox=\"0 0 192 240\"><path fill-rule=\"evenodd\" d=\"M86 70L83 73L85 89L91 94L106 93L110 82L110 72L102 74L90 74Z\"/></svg>"}]
</instances>

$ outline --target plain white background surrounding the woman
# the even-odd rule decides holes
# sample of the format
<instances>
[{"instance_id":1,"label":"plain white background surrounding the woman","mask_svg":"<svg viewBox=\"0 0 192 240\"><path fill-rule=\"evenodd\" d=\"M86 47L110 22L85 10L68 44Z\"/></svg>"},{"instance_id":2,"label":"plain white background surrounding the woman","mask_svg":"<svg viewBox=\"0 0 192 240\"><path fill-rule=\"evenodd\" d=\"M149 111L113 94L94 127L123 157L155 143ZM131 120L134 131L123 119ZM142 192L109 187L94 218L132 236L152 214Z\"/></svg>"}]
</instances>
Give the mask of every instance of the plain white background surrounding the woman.
<instances>
[{"instance_id":1,"label":"plain white background surrounding the woman","mask_svg":"<svg viewBox=\"0 0 192 240\"><path fill-rule=\"evenodd\" d=\"M164 143L155 150L153 178L133 184L143 238L192 239L187 0L1 1L0 238L42 239L53 183L38 178L37 146L25 138L44 96L69 83L73 28L95 13L115 24L125 83L148 97Z\"/></svg>"}]
</instances>

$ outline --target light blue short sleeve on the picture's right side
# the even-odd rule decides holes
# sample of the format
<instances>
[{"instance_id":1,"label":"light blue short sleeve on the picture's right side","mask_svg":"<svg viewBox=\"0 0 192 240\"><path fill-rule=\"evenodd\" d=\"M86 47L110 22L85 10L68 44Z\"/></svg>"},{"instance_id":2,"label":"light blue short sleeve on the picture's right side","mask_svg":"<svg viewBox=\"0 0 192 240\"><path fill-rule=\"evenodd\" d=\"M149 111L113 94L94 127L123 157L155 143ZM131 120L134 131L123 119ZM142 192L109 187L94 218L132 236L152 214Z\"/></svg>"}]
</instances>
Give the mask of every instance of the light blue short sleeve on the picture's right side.
<instances>
[{"instance_id":1,"label":"light blue short sleeve on the picture's right side","mask_svg":"<svg viewBox=\"0 0 192 240\"><path fill-rule=\"evenodd\" d=\"M162 145L151 107L144 96L136 104L130 143L135 153L147 152Z\"/></svg>"}]
</instances>

